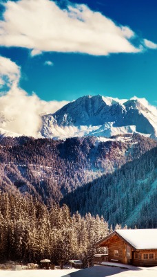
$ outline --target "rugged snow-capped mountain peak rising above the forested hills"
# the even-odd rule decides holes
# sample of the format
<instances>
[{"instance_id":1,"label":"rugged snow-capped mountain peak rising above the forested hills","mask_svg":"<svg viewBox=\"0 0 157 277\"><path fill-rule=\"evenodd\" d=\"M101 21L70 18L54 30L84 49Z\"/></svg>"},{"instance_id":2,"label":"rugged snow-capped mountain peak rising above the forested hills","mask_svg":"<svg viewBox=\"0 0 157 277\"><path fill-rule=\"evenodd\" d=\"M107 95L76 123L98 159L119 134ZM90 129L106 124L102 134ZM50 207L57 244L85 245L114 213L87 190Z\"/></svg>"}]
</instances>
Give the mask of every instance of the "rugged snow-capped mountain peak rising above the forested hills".
<instances>
[{"instance_id":1,"label":"rugged snow-capped mountain peak rising above the forested hills","mask_svg":"<svg viewBox=\"0 0 157 277\"><path fill-rule=\"evenodd\" d=\"M41 136L113 136L138 132L157 137L157 112L140 99L122 102L110 97L83 96L54 114L43 116Z\"/></svg>"}]
</instances>

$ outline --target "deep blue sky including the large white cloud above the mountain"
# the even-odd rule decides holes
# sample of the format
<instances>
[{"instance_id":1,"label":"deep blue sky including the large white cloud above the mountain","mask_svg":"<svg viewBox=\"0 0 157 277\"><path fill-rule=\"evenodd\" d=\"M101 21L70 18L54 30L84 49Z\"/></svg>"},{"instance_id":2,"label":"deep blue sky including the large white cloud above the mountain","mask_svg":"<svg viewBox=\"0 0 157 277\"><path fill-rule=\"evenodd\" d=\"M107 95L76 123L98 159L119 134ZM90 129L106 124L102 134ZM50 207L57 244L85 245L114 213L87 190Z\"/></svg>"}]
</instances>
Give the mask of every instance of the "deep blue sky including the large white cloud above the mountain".
<instances>
[{"instance_id":1,"label":"deep blue sky including the large white cloud above the mountain","mask_svg":"<svg viewBox=\"0 0 157 277\"><path fill-rule=\"evenodd\" d=\"M9 5L1 6L5 24L0 24L0 55L20 66L19 87L28 94L34 91L46 101L101 94L114 98L137 96L156 105L155 0L52 1L55 6L50 6L48 0L38 0L38 8L34 0L29 1L32 6L25 5L25 0L21 0L23 6L20 1L3 1ZM68 15L67 6L71 7ZM45 24L53 8L53 21ZM5 75L3 70L1 75Z\"/></svg>"}]
</instances>

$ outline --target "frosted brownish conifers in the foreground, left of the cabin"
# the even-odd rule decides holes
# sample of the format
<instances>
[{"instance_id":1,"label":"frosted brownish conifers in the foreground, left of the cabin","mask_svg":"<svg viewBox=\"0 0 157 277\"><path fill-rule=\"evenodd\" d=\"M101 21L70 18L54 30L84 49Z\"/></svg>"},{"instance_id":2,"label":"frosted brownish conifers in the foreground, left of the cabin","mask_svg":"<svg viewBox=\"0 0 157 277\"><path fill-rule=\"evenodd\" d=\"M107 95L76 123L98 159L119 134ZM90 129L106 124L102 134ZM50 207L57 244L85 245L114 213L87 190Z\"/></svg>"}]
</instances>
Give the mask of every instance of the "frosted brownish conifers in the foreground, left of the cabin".
<instances>
[{"instance_id":1,"label":"frosted brownish conifers in the foreground, left of the cabin","mask_svg":"<svg viewBox=\"0 0 157 277\"><path fill-rule=\"evenodd\" d=\"M48 209L19 193L0 193L0 262L39 262L49 258L59 264L81 259L92 265L94 244L108 233L103 217L72 217L67 206Z\"/></svg>"}]
</instances>

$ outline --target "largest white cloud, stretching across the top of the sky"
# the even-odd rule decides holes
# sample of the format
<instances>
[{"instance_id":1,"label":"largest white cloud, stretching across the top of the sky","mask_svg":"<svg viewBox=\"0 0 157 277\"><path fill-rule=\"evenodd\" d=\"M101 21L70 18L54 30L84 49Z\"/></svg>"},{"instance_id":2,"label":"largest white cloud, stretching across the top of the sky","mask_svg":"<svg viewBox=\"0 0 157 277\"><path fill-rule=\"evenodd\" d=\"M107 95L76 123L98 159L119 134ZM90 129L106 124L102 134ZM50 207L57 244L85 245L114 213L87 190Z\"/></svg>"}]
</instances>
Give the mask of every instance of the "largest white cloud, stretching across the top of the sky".
<instances>
[{"instance_id":1,"label":"largest white cloud, stretching across the top of the sky","mask_svg":"<svg viewBox=\"0 0 157 277\"><path fill-rule=\"evenodd\" d=\"M0 45L42 51L78 52L91 55L137 53L136 36L129 27L118 26L101 12L70 4L65 10L50 0L7 1L0 21Z\"/></svg>"}]
</instances>

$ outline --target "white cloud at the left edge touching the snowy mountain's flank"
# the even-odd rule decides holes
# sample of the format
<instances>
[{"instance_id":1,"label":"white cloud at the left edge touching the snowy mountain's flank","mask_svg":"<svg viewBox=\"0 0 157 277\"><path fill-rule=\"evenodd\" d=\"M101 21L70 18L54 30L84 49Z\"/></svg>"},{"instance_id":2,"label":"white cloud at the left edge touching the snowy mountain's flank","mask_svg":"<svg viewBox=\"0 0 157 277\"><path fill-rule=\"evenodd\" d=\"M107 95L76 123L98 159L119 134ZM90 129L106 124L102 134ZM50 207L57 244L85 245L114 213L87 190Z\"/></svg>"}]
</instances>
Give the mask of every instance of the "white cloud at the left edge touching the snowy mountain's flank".
<instances>
[{"instance_id":1,"label":"white cloud at the left edge touching the snowy mountain's flank","mask_svg":"<svg viewBox=\"0 0 157 277\"><path fill-rule=\"evenodd\" d=\"M20 68L6 57L0 57L0 84L9 87L0 96L0 128L26 136L38 136L41 114L54 113L67 101L41 100L35 93L31 96L19 87Z\"/></svg>"}]
</instances>

